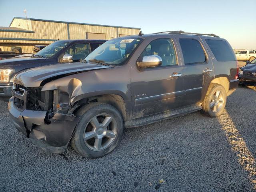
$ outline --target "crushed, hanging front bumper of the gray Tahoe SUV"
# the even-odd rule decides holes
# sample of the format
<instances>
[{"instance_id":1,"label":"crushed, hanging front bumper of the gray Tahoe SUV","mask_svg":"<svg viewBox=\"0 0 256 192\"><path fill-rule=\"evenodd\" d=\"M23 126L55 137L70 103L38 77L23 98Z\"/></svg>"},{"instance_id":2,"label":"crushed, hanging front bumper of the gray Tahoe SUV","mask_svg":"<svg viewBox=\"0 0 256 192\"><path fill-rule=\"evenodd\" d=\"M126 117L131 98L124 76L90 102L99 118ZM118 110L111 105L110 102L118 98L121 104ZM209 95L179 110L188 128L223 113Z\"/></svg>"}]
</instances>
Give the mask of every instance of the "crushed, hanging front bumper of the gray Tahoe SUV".
<instances>
[{"instance_id":1,"label":"crushed, hanging front bumper of the gray Tahoe SUV","mask_svg":"<svg viewBox=\"0 0 256 192\"><path fill-rule=\"evenodd\" d=\"M46 111L20 110L13 100L14 97L10 98L8 111L10 120L19 132L32 138L42 150L52 153L66 151L80 118L55 113L51 123L46 124Z\"/></svg>"}]
</instances>

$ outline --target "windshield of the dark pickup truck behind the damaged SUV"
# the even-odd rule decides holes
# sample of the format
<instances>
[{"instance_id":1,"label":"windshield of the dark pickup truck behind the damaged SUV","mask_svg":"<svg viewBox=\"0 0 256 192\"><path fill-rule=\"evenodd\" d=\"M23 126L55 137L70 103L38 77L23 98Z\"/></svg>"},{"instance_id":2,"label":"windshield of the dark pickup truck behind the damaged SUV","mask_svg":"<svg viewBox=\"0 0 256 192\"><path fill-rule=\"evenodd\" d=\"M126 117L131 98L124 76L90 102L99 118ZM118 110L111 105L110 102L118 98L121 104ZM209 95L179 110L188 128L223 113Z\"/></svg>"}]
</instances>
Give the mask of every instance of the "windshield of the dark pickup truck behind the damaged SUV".
<instances>
[{"instance_id":1,"label":"windshield of the dark pickup truck behind the damaged SUV","mask_svg":"<svg viewBox=\"0 0 256 192\"><path fill-rule=\"evenodd\" d=\"M56 41L56 42L46 46L42 50L40 50L37 54L35 54L35 56L39 55L39 56L44 57L44 58L52 58L60 50L62 50L66 46L68 46L68 44L70 44L70 42L58 42L58 41Z\"/></svg>"}]
</instances>

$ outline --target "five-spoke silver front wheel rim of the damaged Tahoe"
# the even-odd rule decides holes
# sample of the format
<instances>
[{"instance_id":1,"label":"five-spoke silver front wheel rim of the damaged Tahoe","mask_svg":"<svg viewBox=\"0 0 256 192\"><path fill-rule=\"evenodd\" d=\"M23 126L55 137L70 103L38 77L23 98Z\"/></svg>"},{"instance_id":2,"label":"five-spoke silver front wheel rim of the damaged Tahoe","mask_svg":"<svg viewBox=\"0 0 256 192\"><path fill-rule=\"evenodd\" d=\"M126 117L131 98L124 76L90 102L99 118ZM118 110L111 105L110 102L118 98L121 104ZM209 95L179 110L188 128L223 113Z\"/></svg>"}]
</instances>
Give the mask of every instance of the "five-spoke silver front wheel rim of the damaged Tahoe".
<instances>
[{"instance_id":1,"label":"five-spoke silver front wheel rim of the damaged Tahoe","mask_svg":"<svg viewBox=\"0 0 256 192\"><path fill-rule=\"evenodd\" d=\"M110 146L117 133L116 120L109 114L98 114L91 118L84 129L84 143L94 151Z\"/></svg>"}]
</instances>

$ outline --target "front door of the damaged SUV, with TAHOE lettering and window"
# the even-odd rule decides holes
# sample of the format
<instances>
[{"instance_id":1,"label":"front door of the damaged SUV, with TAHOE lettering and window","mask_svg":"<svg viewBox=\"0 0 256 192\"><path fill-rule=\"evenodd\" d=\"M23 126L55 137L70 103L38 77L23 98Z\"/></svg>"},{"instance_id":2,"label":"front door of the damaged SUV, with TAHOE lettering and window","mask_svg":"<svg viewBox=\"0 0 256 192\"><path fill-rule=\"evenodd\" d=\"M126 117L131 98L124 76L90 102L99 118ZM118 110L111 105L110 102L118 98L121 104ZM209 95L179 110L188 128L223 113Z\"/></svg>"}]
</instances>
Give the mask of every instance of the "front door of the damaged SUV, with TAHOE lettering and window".
<instances>
[{"instance_id":1,"label":"front door of the damaged SUV, with TAHOE lettering and window","mask_svg":"<svg viewBox=\"0 0 256 192\"><path fill-rule=\"evenodd\" d=\"M133 118L179 108L184 94L183 68L177 60L174 41L170 38L151 41L138 60L148 55L160 56L162 65L131 70Z\"/></svg>"}]
</instances>

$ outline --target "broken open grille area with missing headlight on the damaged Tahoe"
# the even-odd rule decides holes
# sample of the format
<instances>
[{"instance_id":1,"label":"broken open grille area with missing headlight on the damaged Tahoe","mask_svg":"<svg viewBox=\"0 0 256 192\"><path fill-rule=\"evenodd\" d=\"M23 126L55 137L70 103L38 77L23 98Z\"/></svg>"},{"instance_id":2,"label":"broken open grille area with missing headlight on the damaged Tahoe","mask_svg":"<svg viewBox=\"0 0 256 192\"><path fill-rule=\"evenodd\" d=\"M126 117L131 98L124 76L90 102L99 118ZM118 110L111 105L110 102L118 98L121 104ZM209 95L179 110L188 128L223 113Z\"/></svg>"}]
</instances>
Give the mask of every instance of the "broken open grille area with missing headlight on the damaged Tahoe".
<instances>
[{"instance_id":1,"label":"broken open grille area with missing headlight on the damaged Tahoe","mask_svg":"<svg viewBox=\"0 0 256 192\"><path fill-rule=\"evenodd\" d=\"M14 104L20 109L28 110L50 110L53 102L53 91L42 91L42 87L26 88L19 84L14 84L12 90Z\"/></svg>"}]
</instances>

